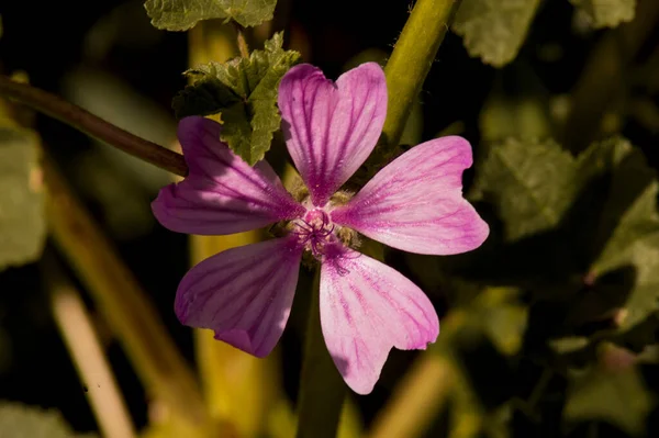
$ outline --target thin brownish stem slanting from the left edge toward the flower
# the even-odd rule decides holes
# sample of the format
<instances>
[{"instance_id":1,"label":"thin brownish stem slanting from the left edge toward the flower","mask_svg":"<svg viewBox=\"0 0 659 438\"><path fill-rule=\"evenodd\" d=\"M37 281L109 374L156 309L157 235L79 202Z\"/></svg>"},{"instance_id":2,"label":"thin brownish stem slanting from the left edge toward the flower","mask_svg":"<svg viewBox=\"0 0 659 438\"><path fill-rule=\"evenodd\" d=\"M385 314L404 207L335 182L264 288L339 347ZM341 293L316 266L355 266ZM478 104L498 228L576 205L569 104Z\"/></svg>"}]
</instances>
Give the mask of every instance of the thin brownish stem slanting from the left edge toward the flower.
<instances>
[{"instance_id":1,"label":"thin brownish stem slanting from the left edge toward the flower","mask_svg":"<svg viewBox=\"0 0 659 438\"><path fill-rule=\"evenodd\" d=\"M188 175L182 155L114 126L55 94L0 76L0 96L14 99L161 169L181 177Z\"/></svg>"}]
</instances>

